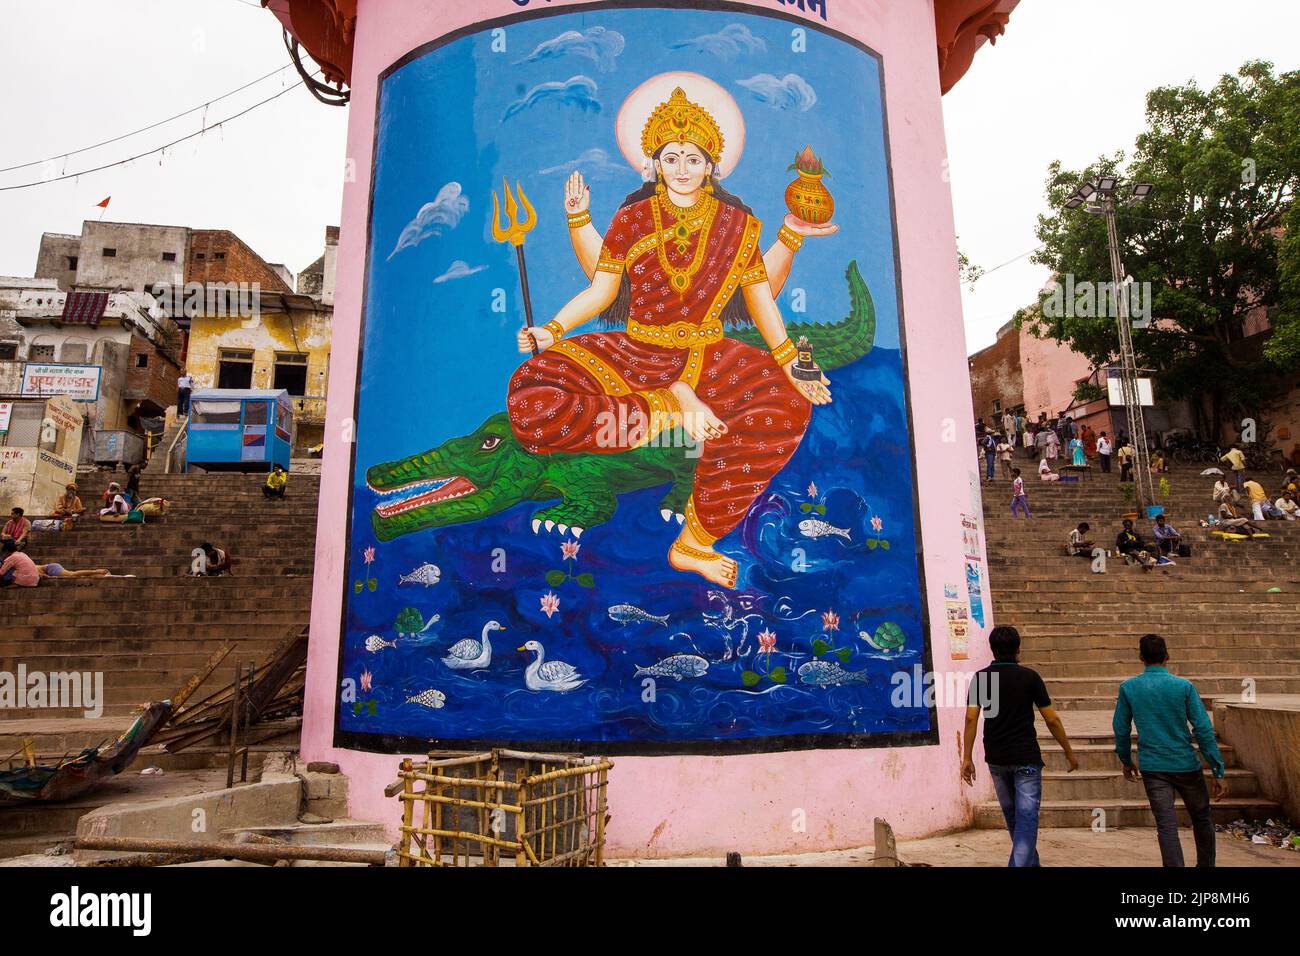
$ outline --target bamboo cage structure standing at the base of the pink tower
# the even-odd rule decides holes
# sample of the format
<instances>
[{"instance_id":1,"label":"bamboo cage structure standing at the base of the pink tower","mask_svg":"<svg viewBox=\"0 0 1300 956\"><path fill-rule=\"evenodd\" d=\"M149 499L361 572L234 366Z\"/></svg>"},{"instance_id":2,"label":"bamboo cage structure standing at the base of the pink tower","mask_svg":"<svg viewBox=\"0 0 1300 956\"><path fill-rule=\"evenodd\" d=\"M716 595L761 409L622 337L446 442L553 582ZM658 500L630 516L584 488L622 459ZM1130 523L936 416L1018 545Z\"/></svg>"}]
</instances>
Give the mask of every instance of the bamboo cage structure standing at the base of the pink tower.
<instances>
[{"instance_id":1,"label":"bamboo cage structure standing at the base of the pink tower","mask_svg":"<svg viewBox=\"0 0 1300 956\"><path fill-rule=\"evenodd\" d=\"M494 749L400 763L398 866L603 866L608 760Z\"/></svg>"}]
</instances>

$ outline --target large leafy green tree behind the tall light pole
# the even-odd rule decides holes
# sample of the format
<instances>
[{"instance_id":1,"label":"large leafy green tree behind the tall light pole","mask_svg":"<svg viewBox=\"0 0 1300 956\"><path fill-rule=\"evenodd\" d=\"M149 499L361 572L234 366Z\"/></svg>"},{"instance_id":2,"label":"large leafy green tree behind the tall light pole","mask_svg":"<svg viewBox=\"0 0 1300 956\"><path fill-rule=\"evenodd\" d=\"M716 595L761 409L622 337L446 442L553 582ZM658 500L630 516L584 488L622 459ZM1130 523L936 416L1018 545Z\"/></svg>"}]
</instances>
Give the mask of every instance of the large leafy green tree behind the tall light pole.
<instances>
[{"instance_id":1,"label":"large leafy green tree behind the tall light pole","mask_svg":"<svg viewBox=\"0 0 1300 956\"><path fill-rule=\"evenodd\" d=\"M1226 416L1257 414L1275 376L1300 362L1300 73L1274 75L1271 64L1251 61L1208 91L1158 87L1147 95L1132 161L1115 152L1082 170L1052 163L1052 212L1039 216L1034 261L1058 278L1110 281L1105 217L1063 208L1097 174L1156 187L1117 215L1121 260L1152 291L1152 323L1132 334L1138 365L1153 371L1165 398L1192 399L1218 436ZM1046 302L1017 320L1097 367L1115 360L1113 313L1058 315ZM1243 349L1247 319L1264 310L1269 346Z\"/></svg>"}]
</instances>

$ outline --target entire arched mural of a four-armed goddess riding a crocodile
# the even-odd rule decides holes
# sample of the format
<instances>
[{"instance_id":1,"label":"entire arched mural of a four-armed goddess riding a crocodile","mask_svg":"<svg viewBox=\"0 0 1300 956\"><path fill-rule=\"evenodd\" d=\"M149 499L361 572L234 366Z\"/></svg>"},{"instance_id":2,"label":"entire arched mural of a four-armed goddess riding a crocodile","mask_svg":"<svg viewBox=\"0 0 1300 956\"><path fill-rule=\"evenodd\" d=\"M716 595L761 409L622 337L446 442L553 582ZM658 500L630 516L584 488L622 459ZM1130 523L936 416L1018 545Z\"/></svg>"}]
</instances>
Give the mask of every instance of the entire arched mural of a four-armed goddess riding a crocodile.
<instances>
[{"instance_id":1,"label":"entire arched mural of a four-armed goddess riding a crocodile","mask_svg":"<svg viewBox=\"0 0 1300 956\"><path fill-rule=\"evenodd\" d=\"M341 744L933 743L880 90L723 8L385 74Z\"/></svg>"}]
</instances>

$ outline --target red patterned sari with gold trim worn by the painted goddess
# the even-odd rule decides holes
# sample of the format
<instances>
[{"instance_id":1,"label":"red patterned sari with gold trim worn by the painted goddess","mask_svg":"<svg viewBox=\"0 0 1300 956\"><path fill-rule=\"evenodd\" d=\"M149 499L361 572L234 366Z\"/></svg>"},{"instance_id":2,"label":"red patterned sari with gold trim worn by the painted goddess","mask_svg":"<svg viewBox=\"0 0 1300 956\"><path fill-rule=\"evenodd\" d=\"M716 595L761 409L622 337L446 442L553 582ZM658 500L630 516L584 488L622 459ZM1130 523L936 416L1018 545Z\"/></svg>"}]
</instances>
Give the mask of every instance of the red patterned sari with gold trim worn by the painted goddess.
<instances>
[{"instance_id":1,"label":"red patterned sari with gold trim worn by the painted goddess","mask_svg":"<svg viewBox=\"0 0 1300 956\"><path fill-rule=\"evenodd\" d=\"M762 224L710 195L679 213L656 196L619 209L595 268L627 271L627 330L564 338L525 362L507 411L529 451L616 453L653 441L654 412L673 405L668 386L688 382L728 428L705 442L686 503L692 529L712 542L794 454L812 406L771 352L723 333L731 298L767 281Z\"/></svg>"}]
</instances>

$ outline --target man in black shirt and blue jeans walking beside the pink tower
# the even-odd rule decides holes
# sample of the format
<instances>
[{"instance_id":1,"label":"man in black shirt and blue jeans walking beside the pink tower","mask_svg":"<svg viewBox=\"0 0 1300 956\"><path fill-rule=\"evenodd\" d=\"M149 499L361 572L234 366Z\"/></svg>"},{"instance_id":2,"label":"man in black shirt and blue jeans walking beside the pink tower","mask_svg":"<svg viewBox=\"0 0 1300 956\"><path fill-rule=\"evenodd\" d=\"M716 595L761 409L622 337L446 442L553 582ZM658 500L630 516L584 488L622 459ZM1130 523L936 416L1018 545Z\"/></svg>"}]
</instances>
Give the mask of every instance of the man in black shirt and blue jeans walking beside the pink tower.
<instances>
[{"instance_id":1,"label":"man in black shirt and blue jeans walking beside the pink tower","mask_svg":"<svg viewBox=\"0 0 1300 956\"><path fill-rule=\"evenodd\" d=\"M966 702L966 736L962 747L962 779L975 783L975 728L984 714L984 760L997 803L1011 834L1008 866L1039 865L1039 804L1043 803L1043 753L1034 727L1034 708L1043 714L1052 736L1065 750L1070 773L1079 760L1070 747L1061 718L1052 709L1048 688L1037 671L1022 667L1020 632L1005 624L988 636L993 663L975 672Z\"/></svg>"}]
</instances>

